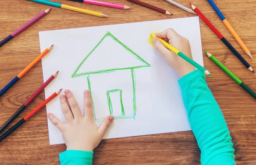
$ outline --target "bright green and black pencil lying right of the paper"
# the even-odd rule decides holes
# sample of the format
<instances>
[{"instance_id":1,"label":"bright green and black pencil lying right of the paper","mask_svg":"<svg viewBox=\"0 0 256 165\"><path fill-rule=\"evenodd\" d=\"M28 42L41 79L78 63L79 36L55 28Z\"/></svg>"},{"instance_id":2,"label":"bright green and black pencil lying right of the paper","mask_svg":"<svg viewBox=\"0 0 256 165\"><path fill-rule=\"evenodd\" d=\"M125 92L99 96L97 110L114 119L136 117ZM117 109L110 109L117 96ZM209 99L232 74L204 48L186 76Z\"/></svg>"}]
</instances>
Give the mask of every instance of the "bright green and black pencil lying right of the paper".
<instances>
[{"instance_id":1,"label":"bright green and black pencil lying right of the paper","mask_svg":"<svg viewBox=\"0 0 256 165\"><path fill-rule=\"evenodd\" d=\"M228 76L233 78L233 80L236 81L237 84L239 84L246 92L248 92L251 96L253 96L253 98L256 99L256 93L253 92L252 89L247 87L247 85L245 85L238 77L236 77L236 75L234 75L229 69L227 69L227 67L221 64L221 62L219 62L218 59L216 59L212 54L208 53L207 51L205 51L205 53L207 54L209 59L211 59L216 65L218 65L218 67L220 67L225 73L227 73Z\"/></svg>"}]
</instances>

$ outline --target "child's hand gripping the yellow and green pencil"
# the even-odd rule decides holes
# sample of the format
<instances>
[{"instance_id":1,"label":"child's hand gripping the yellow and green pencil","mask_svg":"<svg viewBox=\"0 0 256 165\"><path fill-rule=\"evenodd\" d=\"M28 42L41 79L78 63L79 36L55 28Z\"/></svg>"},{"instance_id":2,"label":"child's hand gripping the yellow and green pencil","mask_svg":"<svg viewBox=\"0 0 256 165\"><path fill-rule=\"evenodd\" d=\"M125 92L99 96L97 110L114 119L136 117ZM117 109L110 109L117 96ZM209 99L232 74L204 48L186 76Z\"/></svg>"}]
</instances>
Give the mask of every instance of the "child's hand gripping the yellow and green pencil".
<instances>
[{"instance_id":1,"label":"child's hand gripping the yellow and green pencil","mask_svg":"<svg viewBox=\"0 0 256 165\"><path fill-rule=\"evenodd\" d=\"M156 36L166 42L169 42L169 44L174 46L177 50L180 50L180 52L192 59L189 40L177 34L177 32L172 28L163 31L162 33L158 33ZM156 50L163 56L167 64L176 70L180 77L183 77L195 70L194 66L186 62L177 54L173 53L171 50L167 49L159 39L154 39L153 42Z\"/></svg>"}]
</instances>

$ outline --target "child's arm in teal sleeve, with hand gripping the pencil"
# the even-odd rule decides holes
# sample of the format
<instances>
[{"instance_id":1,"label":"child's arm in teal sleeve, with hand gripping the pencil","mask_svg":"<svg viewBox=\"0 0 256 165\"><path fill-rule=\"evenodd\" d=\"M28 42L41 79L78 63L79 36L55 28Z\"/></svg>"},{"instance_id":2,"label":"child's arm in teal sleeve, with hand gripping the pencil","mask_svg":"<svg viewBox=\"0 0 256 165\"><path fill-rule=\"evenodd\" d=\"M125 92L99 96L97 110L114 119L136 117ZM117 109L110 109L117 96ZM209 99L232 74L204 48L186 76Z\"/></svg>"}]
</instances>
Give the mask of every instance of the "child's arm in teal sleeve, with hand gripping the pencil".
<instances>
[{"instance_id":1,"label":"child's arm in teal sleeve, with hand gripping the pencil","mask_svg":"<svg viewBox=\"0 0 256 165\"><path fill-rule=\"evenodd\" d=\"M189 41L172 29L157 34L192 58ZM155 48L178 75L189 123L201 149L202 165L235 165L233 143L221 109L207 87L205 75L154 39Z\"/></svg>"}]
</instances>

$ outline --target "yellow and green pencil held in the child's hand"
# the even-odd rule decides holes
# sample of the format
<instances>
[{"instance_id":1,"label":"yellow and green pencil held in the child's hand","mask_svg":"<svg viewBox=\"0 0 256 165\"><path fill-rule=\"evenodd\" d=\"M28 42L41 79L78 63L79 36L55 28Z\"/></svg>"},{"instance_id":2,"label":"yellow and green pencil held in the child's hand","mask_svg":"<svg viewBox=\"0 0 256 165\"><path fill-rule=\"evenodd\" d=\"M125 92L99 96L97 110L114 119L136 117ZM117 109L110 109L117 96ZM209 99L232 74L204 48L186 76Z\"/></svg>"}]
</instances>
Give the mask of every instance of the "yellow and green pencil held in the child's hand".
<instances>
[{"instance_id":1,"label":"yellow and green pencil held in the child's hand","mask_svg":"<svg viewBox=\"0 0 256 165\"><path fill-rule=\"evenodd\" d=\"M153 37L156 39L159 39L166 48L168 48L169 50L171 50L172 52L174 52L175 54L180 56L182 59L186 60L186 62L188 62L189 64L192 64L197 69L203 71L206 75L211 76L211 73L209 73L209 71L207 69L205 69L200 64L198 64L197 62L195 62L194 60L190 59L188 56L186 56L185 54L180 52L180 50L177 50L172 45L170 45L168 42L164 41L163 39L157 38L156 35L153 35Z\"/></svg>"}]
</instances>

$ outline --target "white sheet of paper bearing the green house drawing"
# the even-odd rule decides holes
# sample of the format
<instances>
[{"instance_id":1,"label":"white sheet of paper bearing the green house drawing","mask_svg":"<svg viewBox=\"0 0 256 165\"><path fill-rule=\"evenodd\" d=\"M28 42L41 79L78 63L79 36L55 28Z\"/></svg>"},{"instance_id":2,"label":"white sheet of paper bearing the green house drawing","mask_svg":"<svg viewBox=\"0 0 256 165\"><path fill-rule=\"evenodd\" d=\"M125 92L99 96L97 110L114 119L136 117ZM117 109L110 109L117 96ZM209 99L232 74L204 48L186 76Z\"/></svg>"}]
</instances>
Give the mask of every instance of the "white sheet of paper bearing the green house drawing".
<instances>
[{"instance_id":1,"label":"white sheet of paper bearing the green house drawing","mask_svg":"<svg viewBox=\"0 0 256 165\"><path fill-rule=\"evenodd\" d=\"M99 126L101 119L110 115L109 100L113 115L120 117L113 121L104 139L191 130L177 82L178 76L148 43L151 32L167 28L173 28L189 39L193 59L203 66L198 17L39 32L41 51L54 44L51 52L42 60L44 81L60 71L45 89L45 97L60 88L70 89L83 114L83 92L89 89L89 81L96 124ZM100 42L108 32L150 64L150 67L146 67L145 62L135 58L131 51L111 36ZM92 51L99 42L98 47ZM79 64L90 52L90 56L76 72L77 76L72 78ZM133 77L131 68L138 66L144 67L133 69ZM120 68L130 69L90 73L89 78L86 75L88 72ZM122 101L121 91L111 92L113 89L122 90ZM58 97L47 104L47 112L65 121ZM64 143L61 132L49 120L48 128L51 145Z\"/></svg>"}]
</instances>

